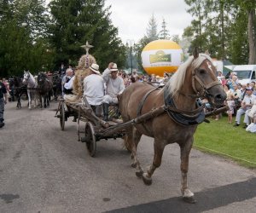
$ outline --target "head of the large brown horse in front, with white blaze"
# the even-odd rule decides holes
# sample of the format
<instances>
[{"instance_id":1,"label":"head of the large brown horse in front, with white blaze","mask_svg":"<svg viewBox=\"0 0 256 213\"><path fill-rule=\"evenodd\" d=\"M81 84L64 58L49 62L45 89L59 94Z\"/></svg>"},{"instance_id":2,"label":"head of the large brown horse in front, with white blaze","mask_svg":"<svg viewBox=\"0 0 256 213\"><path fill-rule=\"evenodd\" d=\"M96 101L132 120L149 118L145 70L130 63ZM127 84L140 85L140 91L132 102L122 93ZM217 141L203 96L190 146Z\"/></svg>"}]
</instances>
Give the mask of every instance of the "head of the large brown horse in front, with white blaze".
<instances>
[{"instance_id":1,"label":"head of the large brown horse in front, with white blaze","mask_svg":"<svg viewBox=\"0 0 256 213\"><path fill-rule=\"evenodd\" d=\"M192 98L207 99L212 105L223 105L226 93L217 79L216 67L207 54L195 49L166 84L172 96L182 94Z\"/></svg>"}]
</instances>

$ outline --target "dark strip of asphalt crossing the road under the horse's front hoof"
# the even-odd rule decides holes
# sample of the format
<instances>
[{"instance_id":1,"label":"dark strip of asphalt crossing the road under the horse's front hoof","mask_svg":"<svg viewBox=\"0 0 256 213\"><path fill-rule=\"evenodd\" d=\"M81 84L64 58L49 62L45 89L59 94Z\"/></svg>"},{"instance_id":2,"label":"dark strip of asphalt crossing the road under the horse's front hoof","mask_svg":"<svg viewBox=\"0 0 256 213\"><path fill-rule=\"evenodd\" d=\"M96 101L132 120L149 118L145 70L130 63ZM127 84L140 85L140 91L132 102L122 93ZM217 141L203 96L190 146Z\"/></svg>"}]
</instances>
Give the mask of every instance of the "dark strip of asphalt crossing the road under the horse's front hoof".
<instances>
[{"instance_id":1,"label":"dark strip of asphalt crossing the road under the horse's front hoof","mask_svg":"<svg viewBox=\"0 0 256 213\"><path fill-rule=\"evenodd\" d=\"M252 199L253 197L256 197L255 188L256 178L252 178L248 181L236 182L223 187L211 188L200 193L195 193L195 199L197 200L196 204L187 204L183 202L181 197L175 197L108 212L201 212L204 210L212 210L227 204L241 202L246 199Z\"/></svg>"}]
</instances>

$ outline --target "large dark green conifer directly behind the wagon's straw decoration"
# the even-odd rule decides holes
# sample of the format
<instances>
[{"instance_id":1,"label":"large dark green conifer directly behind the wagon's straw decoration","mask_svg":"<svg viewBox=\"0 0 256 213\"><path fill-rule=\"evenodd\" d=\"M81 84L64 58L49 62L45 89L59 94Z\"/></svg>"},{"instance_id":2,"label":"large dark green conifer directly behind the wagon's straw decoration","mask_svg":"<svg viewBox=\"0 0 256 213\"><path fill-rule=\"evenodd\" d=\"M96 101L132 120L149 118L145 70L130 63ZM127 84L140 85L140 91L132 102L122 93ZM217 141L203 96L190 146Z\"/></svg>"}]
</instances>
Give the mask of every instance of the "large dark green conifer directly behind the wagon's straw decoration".
<instances>
[{"instance_id":1,"label":"large dark green conifer directly behind the wagon's straw decoration","mask_svg":"<svg viewBox=\"0 0 256 213\"><path fill-rule=\"evenodd\" d=\"M53 0L49 3L52 15L50 41L55 47L55 65L61 62L77 64L89 41L94 48L90 54L96 57L100 67L110 61L125 66L125 46L118 37L118 29L110 20L111 7L104 8L104 0Z\"/></svg>"}]
</instances>

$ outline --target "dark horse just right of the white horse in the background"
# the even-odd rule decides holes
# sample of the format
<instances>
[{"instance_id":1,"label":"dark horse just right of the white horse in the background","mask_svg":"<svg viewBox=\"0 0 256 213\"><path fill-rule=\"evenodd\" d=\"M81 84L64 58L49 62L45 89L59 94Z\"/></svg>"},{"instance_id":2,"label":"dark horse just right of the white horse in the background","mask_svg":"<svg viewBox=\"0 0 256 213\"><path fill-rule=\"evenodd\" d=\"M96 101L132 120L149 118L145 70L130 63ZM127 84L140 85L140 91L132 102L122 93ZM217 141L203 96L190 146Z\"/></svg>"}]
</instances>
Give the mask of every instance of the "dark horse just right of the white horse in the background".
<instances>
[{"instance_id":1,"label":"dark horse just right of the white horse in the background","mask_svg":"<svg viewBox=\"0 0 256 213\"><path fill-rule=\"evenodd\" d=\"M49 106L50 95L52 94L52 83L48 80L44 72L38 74L38 95L40 100L40 107L43 107L42 97L44 98L44 108Z\"/></svg>"}]
</instances>

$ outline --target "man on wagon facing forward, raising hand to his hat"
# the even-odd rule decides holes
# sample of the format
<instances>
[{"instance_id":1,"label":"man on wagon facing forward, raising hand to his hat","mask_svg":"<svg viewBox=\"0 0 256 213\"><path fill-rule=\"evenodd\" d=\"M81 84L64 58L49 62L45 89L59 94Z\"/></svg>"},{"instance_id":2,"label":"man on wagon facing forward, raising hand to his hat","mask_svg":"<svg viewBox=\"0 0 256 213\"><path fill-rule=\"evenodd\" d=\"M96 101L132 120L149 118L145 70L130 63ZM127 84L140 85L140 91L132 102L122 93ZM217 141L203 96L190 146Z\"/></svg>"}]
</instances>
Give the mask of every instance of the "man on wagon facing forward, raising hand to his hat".
<instances>
[{"instance_id":1,"label":"man on wagon facing forward, raising hand to his hat","mask_svg":"<svg viewBox=\"0 0 256 213\"><path fill-rule=\"evenodd\" d=\"M103 96L102 106L104 118L108 121L108 107L109 104L118 104L119 95L121 95L125 89L125 83L123 78L117 75L118 67L113 62L109 63L108 68L102 73L102 78L106 83L106 95Z\"/></svg>"}]
</instances>

